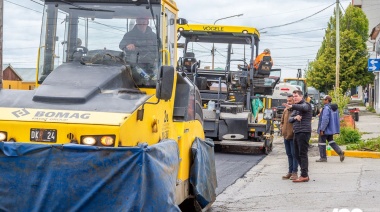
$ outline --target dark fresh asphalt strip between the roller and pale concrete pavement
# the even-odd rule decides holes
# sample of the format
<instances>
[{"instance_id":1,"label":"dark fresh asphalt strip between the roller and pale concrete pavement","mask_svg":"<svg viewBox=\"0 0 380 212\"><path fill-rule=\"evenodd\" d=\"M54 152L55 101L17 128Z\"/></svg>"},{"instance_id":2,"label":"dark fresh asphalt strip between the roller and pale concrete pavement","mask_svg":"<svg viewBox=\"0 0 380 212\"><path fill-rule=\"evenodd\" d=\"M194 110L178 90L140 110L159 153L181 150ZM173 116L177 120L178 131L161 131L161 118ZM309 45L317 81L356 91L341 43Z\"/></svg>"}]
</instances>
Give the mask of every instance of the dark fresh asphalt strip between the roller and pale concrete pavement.
<instances>
[{"instance_id":1,"label":"dark fresh asphalt strip between the roller and pale concrete pavement","mask_svg":"<svg viewBox=\"0 0 380 212\"><path fill-rule=\"evenodd\" d=\"M218 180L216 194L222 193L224 189L244 176L248 170L257 165L264 157L264 154L239 155L215 152L216 177Z\"/></svg>"}]
</instances>

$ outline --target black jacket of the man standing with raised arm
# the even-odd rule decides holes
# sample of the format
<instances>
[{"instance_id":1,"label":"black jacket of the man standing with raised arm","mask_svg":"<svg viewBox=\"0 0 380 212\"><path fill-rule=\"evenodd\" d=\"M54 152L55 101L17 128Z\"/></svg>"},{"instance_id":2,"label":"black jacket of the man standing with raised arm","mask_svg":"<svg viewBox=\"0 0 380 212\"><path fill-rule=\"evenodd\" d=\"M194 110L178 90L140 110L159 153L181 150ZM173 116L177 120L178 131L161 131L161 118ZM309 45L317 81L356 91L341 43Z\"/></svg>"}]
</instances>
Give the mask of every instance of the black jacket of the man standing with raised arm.
<instances>
[{"instance_id":1,"label":"black jacket of the man standing with raised arm","mask_svg":"<svg viewBox=\"0 0 380 212\"><path fill-rule=\"evenodd\" d=\"M292 114L289 117L289 122L293 123L294 133L311 132L311 120L313 118L313 111L310 103L301 100L297 104L292 105ZM295 116L300 115L301 121L294 119Z\"/></svg>"}]
</instances>

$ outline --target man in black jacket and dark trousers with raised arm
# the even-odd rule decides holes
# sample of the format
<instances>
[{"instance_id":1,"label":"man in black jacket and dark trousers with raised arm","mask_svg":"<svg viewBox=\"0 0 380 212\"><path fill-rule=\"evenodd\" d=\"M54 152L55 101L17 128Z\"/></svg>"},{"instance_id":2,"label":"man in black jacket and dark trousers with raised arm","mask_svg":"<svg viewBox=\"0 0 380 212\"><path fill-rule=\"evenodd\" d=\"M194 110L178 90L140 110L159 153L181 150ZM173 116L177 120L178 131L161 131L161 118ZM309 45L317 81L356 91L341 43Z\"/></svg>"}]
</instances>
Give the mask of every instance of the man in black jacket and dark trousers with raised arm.
<instances>
[{"instance_id":1,"label":"man in black jacket and dark trousers with raised arm","mask_svg":"<svg viewBox=\"0 0 380 212\"><path fill-rule=\"evenodd\" d=\"M290 115L289 122L293 123L294 148L298 163L301 167L301 176L293 182L309 181L309 140L311 136L311 120L313 111L310 103L303 99L303 92L300 90L293 91L293 105L286 104L293 112Z\"/></svg>"}]
</instances>

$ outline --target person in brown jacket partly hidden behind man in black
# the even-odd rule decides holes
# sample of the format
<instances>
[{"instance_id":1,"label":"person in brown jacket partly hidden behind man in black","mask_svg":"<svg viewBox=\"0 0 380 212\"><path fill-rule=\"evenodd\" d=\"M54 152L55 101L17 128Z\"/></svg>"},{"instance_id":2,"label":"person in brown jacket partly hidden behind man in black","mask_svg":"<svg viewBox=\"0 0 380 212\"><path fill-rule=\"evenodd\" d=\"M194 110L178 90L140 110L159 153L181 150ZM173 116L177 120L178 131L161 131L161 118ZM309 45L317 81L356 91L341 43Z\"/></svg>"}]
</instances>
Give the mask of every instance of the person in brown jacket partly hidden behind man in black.
<instances>
[{"instance_id":1,"label":"person in brown jacket partly hidden behind man in black","mask_svg":"<svg viewBox=\"0 0 380 212\"><path fill-rule=\"evenodd\" d=\"M293 95L288 96L287 104L294 104ZM284 106L286 104L284 103ZM293 124L289 123L289 116L292 111L290 108L285 108L284 113L281 116L281 132L284 136L285 152L288 156L289 169L288 173L285 176L282 176L282 179L295 180L298 178L298 162L296 159L294 151L294 142L293 142Z\"/></svg>"}]
</instances>

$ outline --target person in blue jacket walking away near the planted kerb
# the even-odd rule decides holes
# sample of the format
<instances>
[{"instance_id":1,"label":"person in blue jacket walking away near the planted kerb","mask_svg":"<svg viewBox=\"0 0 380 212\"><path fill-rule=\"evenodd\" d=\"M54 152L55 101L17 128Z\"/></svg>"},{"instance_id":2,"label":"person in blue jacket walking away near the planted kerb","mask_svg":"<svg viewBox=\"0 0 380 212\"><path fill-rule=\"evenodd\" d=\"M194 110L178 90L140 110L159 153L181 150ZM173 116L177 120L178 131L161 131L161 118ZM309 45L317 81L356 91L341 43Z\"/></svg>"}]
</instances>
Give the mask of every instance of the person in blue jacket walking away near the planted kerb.
<instances>
[{"instance_id":1,"label":"person in blue jacket walking away near the planted kerb","mask_svg":"<svg viewBox=\"0 0 380 212\"><path fill-rule=\"evenodd\" d=\"M331 104L331 96L326 95L323 98L323 109L319 116L318 129L319 134L318 147L321 158L316 162L327 162L326 156L326 140L334 151L340 156L340 162L344 160L344 151L334 141L334 135L340 133L340 121L338 105Z\"/></svg>"}]
</instances>

